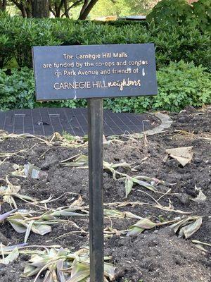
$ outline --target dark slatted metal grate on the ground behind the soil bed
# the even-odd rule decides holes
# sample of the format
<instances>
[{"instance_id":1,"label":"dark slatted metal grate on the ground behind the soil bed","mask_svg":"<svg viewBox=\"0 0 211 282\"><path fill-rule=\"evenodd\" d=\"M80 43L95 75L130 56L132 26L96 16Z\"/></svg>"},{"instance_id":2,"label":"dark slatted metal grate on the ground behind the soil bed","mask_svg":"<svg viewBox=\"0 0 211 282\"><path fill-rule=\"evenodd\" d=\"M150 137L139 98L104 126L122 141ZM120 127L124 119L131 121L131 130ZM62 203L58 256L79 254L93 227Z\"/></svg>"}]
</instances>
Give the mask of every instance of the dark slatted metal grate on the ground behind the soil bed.
<instances>
[{"instance_id":1,"label":"dark slatted metal grate on the ground behind the soil bed","mask_svg":"<svg viewBox=\"0 0 211 282\"><path fill-rule=\"evenodd\" d=\"M113 113L109 110L104 110L103 120L106 136L143 132L160 123L158 118L148 114ZM84 136L88 131L87 109L39 108L0 111L0 129L17 134L51 135L54 132L67 132Z\"/></svg>"}]
</instances>

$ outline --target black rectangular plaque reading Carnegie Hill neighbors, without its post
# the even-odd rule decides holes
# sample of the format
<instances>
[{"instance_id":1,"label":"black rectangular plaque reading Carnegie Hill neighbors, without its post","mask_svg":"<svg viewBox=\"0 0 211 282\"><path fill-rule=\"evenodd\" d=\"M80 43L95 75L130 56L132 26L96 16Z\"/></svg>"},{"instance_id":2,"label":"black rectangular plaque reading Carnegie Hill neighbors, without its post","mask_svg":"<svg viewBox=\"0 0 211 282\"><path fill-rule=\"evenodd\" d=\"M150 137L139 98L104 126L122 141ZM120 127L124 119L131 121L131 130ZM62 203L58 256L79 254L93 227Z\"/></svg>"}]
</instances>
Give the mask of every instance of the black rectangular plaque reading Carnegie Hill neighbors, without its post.
<instances>
[{"instance_id":1,"label":"black rectangular plaque reading Carnegie Hill neighbors, without its post","mask_svg":"<svg viewBox=\"0 0 211 282\"><path fill-rule=\"evenodd\" d=\"M37 100L157 94L153 44L33 47Z\"/></svg>"}]
</instances>

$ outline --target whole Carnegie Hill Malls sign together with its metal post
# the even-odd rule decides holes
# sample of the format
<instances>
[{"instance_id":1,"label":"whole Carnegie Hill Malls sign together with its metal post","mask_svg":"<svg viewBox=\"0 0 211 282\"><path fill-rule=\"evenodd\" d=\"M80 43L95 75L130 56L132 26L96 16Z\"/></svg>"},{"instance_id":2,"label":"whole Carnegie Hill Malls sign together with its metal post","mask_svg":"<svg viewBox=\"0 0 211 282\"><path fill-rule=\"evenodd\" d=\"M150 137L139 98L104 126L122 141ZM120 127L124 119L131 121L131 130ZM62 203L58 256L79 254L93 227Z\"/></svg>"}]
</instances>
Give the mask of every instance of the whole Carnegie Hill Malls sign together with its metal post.
<instances>
[{"instance_id":1,"label":"whole Carnegie Hill Malls sign together with its metal post","mask_svg":"<svg viewBox=\"0 0 211 282\"><path fill-rule=\"evenodd\" d=\"M88 99L90 279L103 282L103 97L158 93L153 44L33 47L37 101Z\"/></svg>"}]
</instances>

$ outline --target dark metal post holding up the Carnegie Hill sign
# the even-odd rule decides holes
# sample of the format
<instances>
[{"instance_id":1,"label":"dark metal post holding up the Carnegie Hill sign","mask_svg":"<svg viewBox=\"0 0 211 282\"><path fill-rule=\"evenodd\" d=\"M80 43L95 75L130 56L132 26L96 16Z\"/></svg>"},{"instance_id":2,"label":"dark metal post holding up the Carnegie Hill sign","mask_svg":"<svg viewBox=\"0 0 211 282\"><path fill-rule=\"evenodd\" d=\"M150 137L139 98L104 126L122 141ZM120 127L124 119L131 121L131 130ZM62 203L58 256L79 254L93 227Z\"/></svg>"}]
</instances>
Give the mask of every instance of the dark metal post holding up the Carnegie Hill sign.
<instances>
[{"instance_id":1,"label":"dark metal post holding up the Carnegie Hill sign","mask_svg":"<svg viewBox=\"0 0 211 282\"><path fill-rule=\"evenodd\" d=\"M88 99L90 281L103 282L103 99Z\"/></svg>"}]
</instances>

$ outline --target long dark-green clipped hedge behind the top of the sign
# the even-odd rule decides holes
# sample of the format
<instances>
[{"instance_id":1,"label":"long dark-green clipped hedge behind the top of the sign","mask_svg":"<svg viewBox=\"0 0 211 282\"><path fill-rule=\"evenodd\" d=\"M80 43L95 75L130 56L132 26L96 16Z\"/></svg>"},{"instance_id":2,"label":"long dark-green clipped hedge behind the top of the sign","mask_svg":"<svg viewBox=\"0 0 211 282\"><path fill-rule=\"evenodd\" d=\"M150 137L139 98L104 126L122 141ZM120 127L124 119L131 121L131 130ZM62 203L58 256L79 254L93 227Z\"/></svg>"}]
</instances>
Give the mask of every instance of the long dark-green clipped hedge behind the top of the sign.
<instances>
[{"instance_id":1,"label":"long dark-green clipped hedge behind the top of the sign","mask_svg":"<svg viewBox=\"0 0 211 282\"><path fill-rule=\"evenodd\" d=\"M210 32L190 25L143 25L73 21L70 19L23 19L0 16L1 65L15 58L17 66L32 67L32 46L130 44L154 42L158 69L170 61L193 61L211 70ZM7 50L7 51L6 51Z\"/></svg>"}]
</instances>

